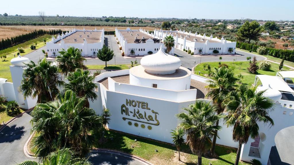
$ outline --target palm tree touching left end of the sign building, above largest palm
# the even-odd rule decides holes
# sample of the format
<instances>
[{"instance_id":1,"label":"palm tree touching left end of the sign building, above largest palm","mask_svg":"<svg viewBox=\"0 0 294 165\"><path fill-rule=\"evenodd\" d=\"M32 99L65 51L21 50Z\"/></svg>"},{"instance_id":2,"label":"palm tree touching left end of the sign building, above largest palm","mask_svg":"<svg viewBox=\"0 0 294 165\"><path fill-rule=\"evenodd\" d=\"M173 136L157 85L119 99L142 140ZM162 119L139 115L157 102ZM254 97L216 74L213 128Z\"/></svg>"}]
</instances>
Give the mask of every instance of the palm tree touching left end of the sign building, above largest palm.
<instances>
[{"instance_id":1,"label":"palm tree touching left end of the sign building, above largest palm","mask_svg":"<svg viewBox=\"0 0 294 165\"><path fill-rule=\"evenodd\" d=\"M75 72L69 73L66 77L69 82L64 84L65 90L74 91L78 97L86 96L86 107L90 107L88 99L92 102L97 99L97 95L94 92L97 86L93 83L95 76L90 74L88 70L77 69Z\"/></svg>"}]
</instances>

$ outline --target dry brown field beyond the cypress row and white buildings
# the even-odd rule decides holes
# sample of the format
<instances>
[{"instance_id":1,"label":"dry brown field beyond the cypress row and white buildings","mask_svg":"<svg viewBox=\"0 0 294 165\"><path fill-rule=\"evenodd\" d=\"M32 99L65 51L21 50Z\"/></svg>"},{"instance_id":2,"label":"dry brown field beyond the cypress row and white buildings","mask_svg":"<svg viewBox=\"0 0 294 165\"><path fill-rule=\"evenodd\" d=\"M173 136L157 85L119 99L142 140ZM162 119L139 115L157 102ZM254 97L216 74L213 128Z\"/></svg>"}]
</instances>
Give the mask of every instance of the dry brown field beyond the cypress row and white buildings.
<instances>
[{"instance_id":1,"label":"dry brown field beyond the cypress row and white buildings","mask_svg":"<svg viewBox=\"0 0 294 165\"><path fill-rule=\"evenodd\" d=\"M104 28L105 31L114 31L115 26L0 26L0 40L2 38L6 39L7 37L17 36L19 34L29 33L34 30L50 30L50 29L61 29L62 31L69 31L69 29L83 29L86 30L100 30ZM126 29L127 27L117 27L118 29ZM131 29L143 28L145 30L154 30L154 27L130 27Z\"/></svg>"}]
</instances>

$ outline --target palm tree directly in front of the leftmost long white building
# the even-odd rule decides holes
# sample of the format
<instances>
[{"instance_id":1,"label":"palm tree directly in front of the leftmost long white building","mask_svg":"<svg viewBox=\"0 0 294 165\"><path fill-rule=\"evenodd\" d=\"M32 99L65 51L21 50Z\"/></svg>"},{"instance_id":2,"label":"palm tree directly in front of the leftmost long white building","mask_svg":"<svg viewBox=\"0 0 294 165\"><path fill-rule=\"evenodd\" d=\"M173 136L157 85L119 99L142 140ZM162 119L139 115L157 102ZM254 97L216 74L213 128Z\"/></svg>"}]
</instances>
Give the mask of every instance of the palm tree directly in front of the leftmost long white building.
<instances>
[{"instance_id":1,"label":"palm tree directly in front of the leftmost long white building","mask_svg":"<svg viewBox=\"0 0 294 165\"><path fill-rule=\"evenodd\" d=\"M56 62L62 73L67 75L74 72L77 68L87 69L83 61L86 60L78 48L70 46L68 49L59 51L60 55L56 57Z\"/></svg>"}]
</instances>

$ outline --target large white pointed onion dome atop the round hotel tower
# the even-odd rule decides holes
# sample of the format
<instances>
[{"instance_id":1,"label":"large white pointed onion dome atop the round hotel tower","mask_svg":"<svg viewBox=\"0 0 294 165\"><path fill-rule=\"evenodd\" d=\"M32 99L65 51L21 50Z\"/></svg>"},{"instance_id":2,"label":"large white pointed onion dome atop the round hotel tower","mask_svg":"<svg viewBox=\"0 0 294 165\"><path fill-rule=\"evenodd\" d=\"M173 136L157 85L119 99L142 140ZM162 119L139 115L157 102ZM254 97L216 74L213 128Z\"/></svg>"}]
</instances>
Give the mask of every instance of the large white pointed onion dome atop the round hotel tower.
<instances>
[{"instance_id":1,"label":"large white pointed onion dome atop the round hotel tower","mask_svg":"<svg viewBox=\"0 0 294 165\"><path fill-rule=\"evenodd\" d=\"M157 53L143 57L140 63L146 72L153 74L171 74L181 67L181 60L166 54L162 45Z\"/></svg>"}]
</instances>

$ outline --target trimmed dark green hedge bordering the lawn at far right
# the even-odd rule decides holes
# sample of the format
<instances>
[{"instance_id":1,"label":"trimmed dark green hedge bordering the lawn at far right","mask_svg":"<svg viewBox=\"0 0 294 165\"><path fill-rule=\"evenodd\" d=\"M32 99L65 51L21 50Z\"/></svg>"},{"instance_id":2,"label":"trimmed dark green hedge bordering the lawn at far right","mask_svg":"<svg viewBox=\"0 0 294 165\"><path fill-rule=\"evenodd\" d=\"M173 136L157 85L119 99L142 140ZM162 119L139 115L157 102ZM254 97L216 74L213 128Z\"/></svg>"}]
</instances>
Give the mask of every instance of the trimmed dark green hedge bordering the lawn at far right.
<instances>
[{"instance_id":1,"label":"trimmed dark green hedge bordering the lawn at far right","mask_svg":"<svg viewBox=\"0 0 294 165\"><path fill-rule=\"evenodd\" d=\"M240 43L237 41L237 48L240 49L244 49L244 50L249 50L251 51L253 48L253 51L256 52L257 48L259 48L260 46L258 45L254 45L254 44L250 44L250 43ZM275 48L268 48L266 47L265 52L268 52L268 55L276 57L276 58L285 58L285 60L294 62L294 50L283 50L283 49L275 49Z\"/></svg>"}]
</instances>

